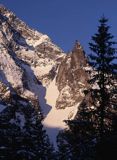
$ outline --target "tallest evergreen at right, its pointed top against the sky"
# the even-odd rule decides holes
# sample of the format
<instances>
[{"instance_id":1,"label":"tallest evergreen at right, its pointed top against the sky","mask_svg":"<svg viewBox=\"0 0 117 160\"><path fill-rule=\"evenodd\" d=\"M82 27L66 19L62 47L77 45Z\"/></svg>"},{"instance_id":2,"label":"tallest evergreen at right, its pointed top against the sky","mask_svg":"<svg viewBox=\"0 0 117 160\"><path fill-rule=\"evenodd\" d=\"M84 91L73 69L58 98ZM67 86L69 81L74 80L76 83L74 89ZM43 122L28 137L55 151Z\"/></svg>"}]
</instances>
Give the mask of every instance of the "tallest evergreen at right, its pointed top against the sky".
<instances>
[{"instance_id":1,"label":"tallest evergreen at right, its pointed top against the sky","mask_svg":"<svg viewBox=\"0 0 117 160\"><path fill-rule=\"evenodd\" d=\"M112 111L115 106L113 102L114 84L116 74L116 64L114 64L116 49L113 36L109 33L109 26L106 24L107 19L103 16L99 22L98 32L92 36L92 42L89 43L93 54L89 56L89 62L93 66L95 73L91 81L93 85L98 84L98 88L92 89L99 105L97 114L99 120L99 134L103 138L107 131L112 130Z\"/></svg>"}]
</instances>

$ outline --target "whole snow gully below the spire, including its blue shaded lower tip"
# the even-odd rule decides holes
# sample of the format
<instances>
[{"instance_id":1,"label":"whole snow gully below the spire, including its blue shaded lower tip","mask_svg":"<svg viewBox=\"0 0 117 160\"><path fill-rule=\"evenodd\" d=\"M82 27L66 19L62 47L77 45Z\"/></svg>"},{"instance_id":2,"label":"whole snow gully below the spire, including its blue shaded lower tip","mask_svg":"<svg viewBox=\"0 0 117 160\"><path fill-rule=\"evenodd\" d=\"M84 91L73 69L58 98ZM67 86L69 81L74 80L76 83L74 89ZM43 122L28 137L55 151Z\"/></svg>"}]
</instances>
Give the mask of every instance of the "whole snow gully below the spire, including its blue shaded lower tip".
<instances>
[{"instance_id":1,"label":"whole snow gully below the spire, including its blue shaded lower tip","mask_svg":"<svg viewBox=\"0 0 117 160\"><path fill-rule=\"evenodd\" d=\"M50 137L51 142L54 144L54 147L57 149L56 136L58 132L66 128L64 120L73 119L77 113L78 104L72 107L66 107L65 109L57 109L56 100L59 95L59 91L56 85L56 77L51 82L51 84L46 88L46 103L51 106L49 113L46 115L43 120L43 125ZM44 106L44 104L43 104Z\"/></svg>"}]
</instances>

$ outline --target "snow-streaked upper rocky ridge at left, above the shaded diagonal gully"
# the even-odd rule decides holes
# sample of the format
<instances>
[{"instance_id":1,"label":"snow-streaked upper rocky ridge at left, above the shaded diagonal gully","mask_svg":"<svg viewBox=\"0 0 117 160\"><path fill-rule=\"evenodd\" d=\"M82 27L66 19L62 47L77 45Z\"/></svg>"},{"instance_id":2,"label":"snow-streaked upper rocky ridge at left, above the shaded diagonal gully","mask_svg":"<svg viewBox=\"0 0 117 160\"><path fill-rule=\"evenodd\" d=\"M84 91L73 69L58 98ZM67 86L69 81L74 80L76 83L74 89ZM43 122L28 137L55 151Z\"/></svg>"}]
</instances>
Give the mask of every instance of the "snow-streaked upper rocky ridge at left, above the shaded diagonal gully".
<instances>
[{"instance_id":1,"label":"snow-streaked upper rocky ridge at left, above the shaded diagonal gully","mask_svg":"<svg viewBox=\"0 0 117 160\"><path fill-rule=\"evenodd\" d=\"M47 35L29 28L3 6L0 8L0 23L2 49L7 48L14 54L17 62L20 61L18 63L24 61L30 65L38 80L48 84L64 56L63 51Z\"/></svg>"}]
</instances>

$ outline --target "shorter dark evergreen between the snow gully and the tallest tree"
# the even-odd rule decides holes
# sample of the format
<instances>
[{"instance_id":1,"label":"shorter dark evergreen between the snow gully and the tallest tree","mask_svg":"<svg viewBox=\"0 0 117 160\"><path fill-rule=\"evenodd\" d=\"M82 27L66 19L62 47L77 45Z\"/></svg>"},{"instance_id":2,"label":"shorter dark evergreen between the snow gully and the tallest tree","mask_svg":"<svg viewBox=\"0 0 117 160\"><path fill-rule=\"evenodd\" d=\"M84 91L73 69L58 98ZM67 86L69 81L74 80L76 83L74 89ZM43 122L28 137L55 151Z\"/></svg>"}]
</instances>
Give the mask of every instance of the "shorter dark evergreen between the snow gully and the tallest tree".
<instances>
[{"instance_id":1,"label":"shorter dark evergreen between the snow gully and the tallest tree","mask_svg":"<svg viewBox=\"0 0 117 160\"><path fill-rule=\"evenodd\" d=\"M79 106L78 118L65 121L69 128L58 135L60 159L94 160L96 129L92 122L92 113L85 105L83 101Z\"/></svg>"}]
</instances>

